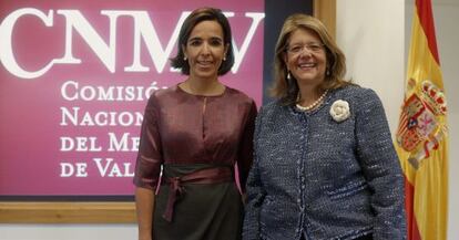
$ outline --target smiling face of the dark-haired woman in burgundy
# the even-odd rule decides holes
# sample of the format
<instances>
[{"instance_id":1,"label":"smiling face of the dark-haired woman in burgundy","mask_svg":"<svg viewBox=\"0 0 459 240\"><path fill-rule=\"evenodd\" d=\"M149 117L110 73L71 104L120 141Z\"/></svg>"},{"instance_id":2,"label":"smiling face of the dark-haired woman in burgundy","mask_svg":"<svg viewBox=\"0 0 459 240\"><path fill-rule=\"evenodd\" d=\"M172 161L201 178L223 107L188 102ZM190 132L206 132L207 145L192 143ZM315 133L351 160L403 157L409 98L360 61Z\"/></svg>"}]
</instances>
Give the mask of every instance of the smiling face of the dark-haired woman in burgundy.
<instances>
[{"instance_id":1,"label":"smiling face of the dark-haired woman in burgundy","mask_svg":"<svg viewBox=\"0 0 459 240\"><path fill-rule=\"evenodd\" d=\"M190 64L190 77L216 79L228 49L224 43L223 29L216 21L197 23L182 46Z\"/></svg>"}]
</instances>

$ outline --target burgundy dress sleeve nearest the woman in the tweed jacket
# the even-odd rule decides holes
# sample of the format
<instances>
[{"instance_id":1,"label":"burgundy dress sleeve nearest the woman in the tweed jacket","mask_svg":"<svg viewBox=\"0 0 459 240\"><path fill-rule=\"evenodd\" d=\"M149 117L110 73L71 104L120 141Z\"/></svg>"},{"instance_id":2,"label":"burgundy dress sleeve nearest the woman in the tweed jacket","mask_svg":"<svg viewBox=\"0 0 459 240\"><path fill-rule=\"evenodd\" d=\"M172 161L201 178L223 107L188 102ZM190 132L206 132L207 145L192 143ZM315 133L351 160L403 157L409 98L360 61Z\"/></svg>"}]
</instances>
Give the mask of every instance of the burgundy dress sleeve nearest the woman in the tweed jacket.
<instances>
[{"instance_id":1,"label":"burgundy dress sleeve nearest the woman in the tweed jacket","mask_svg":"<svg viewBox=\"0 0 459 240\"><path fill-rule=\"evenodd\" d=\"M252 101L245 125L243 126L243 134L241 137L237 156L237 168L242 192L245 192L245 184L247 181L248 170L251 169L253 163L253 139L256 114L256 104L254 101Z\"/></svg>"}]
</instances>

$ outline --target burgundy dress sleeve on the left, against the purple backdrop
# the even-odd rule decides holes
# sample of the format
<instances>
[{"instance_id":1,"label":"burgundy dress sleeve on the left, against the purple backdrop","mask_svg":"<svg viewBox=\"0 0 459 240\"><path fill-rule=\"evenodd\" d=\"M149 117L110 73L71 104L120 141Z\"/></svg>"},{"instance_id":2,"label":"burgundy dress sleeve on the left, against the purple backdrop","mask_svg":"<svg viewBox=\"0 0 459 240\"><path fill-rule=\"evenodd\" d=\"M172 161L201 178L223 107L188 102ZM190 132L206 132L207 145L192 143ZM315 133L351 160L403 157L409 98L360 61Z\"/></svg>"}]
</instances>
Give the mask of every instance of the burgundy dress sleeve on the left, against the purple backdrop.
<instances>
[{"instance_id":1,"label":"burgundy dress sleeve on the left, against the purple backdrop","mask_svg":"<svg viewBox=\"0 0 459 240\"><path fill-rule=\"evenodd\" d=\"M135 164L134 185L156 189L163 164L159 129L159 106L153 94L145 107L141 128L139 154Z\"/></svg>"}]
</instances>

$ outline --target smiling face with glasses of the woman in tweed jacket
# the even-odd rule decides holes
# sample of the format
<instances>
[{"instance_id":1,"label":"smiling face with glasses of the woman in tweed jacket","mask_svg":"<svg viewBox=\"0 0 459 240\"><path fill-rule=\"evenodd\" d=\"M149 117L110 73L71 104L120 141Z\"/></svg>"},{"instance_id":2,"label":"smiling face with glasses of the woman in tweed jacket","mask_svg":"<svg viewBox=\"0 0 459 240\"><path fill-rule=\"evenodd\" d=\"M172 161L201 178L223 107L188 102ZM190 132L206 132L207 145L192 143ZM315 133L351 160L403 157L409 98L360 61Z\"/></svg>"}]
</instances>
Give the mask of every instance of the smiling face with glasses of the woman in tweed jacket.
<instances>
[{"instance_id":1,"label":"smiling face with glasses of the woman in tweed jacket","mask_svg":"<svg viewBox=\"0 0 459 240\"><path fill-rule=\"evenodd\" d=\"M292 32L287 41L285 63L298 85L317 86L325 79L327 56L319 36L307 29Z\"/></svg>"}]
</instances>

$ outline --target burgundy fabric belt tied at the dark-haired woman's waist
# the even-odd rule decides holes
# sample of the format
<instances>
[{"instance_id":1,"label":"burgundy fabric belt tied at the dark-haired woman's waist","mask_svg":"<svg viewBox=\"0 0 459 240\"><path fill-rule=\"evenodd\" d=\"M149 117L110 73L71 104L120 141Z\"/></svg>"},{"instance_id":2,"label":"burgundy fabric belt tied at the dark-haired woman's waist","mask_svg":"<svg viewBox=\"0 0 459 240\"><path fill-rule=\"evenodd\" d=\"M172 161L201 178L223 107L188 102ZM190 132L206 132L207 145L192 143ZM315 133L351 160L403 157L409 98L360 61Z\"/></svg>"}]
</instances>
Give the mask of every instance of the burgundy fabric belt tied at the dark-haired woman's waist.
<instances>
[{"instance_id":1,"label":"burgundy fabric belt tied at the dark-haired woman's waist","mask_svg":"<svg viewBox=\"0 0 459 240\"><path fill-rule=\"evenodd\" d=\"M174 215L175 200L183 192L182 184L221 184L233 181L233 171L230 167L200 169L182 177L163 177L163 182L170 185L167 206L163 218L171 222Z\"/></svg>"}]
</instances>

